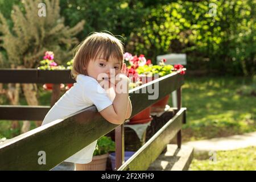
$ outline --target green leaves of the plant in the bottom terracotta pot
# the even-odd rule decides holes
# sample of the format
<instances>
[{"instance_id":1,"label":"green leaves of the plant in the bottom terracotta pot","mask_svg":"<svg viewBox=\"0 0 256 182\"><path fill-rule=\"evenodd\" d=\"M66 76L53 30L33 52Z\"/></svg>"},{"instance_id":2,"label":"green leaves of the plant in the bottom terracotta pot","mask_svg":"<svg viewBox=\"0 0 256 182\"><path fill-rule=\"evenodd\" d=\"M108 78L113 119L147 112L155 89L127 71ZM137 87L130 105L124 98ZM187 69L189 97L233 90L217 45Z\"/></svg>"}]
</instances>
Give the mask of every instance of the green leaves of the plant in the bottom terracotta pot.
<instances>
[{"instance_id":1,"label":"green leaves of the plant in the bottom terracotta pot","mask_svg":"<svg viewBox=\"0 0 256 182\"><path fill-rule=\"evenodd\" d=\"M110 137L103 136L97 140L93 155L103 155L115 150L115 142Z\"/></svg>"}]
</instances>

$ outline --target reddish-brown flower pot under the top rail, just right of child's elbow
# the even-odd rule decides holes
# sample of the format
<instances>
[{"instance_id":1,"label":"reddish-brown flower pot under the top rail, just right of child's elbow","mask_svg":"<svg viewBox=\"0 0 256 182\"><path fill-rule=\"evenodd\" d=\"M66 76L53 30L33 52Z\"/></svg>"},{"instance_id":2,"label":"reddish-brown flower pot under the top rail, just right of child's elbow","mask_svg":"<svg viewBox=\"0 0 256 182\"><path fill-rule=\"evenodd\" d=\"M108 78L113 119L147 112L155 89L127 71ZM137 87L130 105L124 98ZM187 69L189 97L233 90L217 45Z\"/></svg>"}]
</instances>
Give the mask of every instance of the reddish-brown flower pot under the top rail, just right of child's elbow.
<instances>
[{"instance_id":1,"label":"reddish-brown flower pot under the top rail, just right of child's elbow","mask_svg":"<svg viewBox=\"0 0 256 182\"><path fill-rule=\"evenodd\" d=\"M134 115L133 118L130 119L130 121L127 123L129 125L135 125L135 124L143 124L150 122L152 120L152 117L150 115L151 107L147 107L140 113Z\"/></svg>"}]
</instances>

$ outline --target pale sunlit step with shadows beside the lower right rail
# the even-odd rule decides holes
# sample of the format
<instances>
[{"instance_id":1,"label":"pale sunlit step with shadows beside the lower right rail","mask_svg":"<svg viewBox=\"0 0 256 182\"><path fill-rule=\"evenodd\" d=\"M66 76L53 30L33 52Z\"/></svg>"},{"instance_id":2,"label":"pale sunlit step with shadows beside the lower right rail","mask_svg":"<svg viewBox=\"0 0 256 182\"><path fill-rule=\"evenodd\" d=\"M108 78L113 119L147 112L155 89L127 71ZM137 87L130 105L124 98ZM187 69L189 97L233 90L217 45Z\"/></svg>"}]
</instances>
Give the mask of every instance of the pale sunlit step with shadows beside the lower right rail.
<instances>
[{"instance_id":1,"label":"pale sunlit step with shadows beside the lower right rail","mask_svg":"<svg viewBox=\"0 0 256 182\"><path fill-rule=\"evenodd\" d=\"M151 163L148 171L186 171L193 158L193 147L168 144L165 154L161 154Z\"/></svg>"}]
</instances>

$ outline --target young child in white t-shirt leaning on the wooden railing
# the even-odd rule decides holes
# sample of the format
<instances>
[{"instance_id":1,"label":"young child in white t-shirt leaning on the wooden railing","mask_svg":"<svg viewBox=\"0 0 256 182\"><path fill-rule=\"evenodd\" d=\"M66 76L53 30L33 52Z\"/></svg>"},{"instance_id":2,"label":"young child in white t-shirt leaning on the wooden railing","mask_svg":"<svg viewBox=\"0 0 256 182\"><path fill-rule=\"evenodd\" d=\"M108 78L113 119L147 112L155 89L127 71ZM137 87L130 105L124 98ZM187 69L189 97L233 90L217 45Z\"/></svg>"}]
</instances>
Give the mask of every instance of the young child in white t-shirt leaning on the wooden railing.
<instances>
[{"instance_id":1,"label":"young child in white t-shirt leaning on the wooden railing","mask_svg":"<svg viewBox=\"0 0 256 182\"><path fill-rule=\"evenodd\" d=\"M94 32L80 44L75 54L72 75L76 83L49 110L42 125L67 118L92 105L108 122L122 124L130 118L132 110L126 72L121 41L110 34ZM125 92L118 92L118 84ZM91 162L96 143L97 140L51 170L74 170L75 163L79 166Z\"/></svg>"}]
</instances>

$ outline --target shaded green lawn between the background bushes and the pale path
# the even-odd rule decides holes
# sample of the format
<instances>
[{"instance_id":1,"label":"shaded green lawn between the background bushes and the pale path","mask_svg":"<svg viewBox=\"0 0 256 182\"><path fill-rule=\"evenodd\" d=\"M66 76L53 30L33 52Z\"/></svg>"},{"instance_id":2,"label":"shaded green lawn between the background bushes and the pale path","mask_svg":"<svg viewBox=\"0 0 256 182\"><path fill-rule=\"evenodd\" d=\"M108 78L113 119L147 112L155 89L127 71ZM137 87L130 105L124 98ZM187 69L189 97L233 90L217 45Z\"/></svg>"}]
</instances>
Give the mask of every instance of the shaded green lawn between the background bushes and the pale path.
<instances>
[{"instance_id":1,"label":"shaded green lawn between the background bushes and the pale path","mask_svg":"<svg viewBox=\"0 0 256 182\"><path fill-rule=\"evenodd\" d=\"M256 97L239 94L242 86L246 86L247 90L254 89L255 80L242 77L185 77L182 105L187 107L187 124L183 126L183 141L256 131Z\"/></svg>"}]
</instances>

